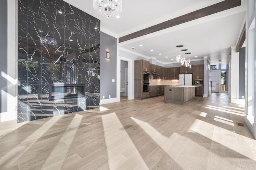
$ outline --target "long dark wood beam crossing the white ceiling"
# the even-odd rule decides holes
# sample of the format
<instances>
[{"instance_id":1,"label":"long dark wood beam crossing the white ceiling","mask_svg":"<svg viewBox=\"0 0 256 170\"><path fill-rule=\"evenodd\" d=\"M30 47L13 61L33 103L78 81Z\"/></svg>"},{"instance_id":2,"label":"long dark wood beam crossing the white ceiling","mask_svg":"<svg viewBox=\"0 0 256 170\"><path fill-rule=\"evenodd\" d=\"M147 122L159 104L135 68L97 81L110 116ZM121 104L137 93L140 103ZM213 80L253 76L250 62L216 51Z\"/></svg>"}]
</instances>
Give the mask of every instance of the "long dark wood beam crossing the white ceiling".
<instances>
[{"instance_id":1,"label":"long dark wood beam crossing the white ceiling","mask_svg":"<svg viewBox=\"0 0 256 170\"><path fill-rule=\"evenodd\" d=\"M217 12L221 12L224 10L228 10L230 8L234 8L236 6L240 6L241 5L241 0L224 0L222 2L219 2L217 4L208 6L206 8L202 8L200 10L196 10L194 12L190 12L188 14L185 14L183 16L179 16L177 18L168 20L168 21L164 21L162 23L158 23L156 25L153 25L151 27L142 29L140 31L136 31L134 33L125 35L123 37L119 38L119 43L122 43L124 41L128 41L130 39L134 39L143 35L147 35L150 33L154 33L156 31L160 31L162 29L166 29L169 27L173 27L175 25L179 25L181 23L185 23L188 21L192 21L192 20L196 20L198 18L202 18L211 14L215 14Z\"/></svg>"}]
</instances>

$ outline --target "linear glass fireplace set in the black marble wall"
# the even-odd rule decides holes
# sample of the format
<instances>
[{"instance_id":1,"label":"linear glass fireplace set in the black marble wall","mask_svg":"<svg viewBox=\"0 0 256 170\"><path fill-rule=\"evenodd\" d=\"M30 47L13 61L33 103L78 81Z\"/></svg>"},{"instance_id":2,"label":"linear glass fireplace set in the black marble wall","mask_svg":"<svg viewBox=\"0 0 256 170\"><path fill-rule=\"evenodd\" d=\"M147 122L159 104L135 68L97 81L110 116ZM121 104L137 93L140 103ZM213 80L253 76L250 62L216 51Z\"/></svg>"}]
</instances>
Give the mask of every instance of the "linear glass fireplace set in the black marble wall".
<instances>
[{"instance_id":1,"label":"linear glass fireplace set in the black marble wall","mask_svg":"<svg viewBox=\"0 0 256 170\"><path fill-rule=\"evenodd\" d=\"M84 97L83 84L51 84L49 100Z\"/></svg>"}]
</instances>

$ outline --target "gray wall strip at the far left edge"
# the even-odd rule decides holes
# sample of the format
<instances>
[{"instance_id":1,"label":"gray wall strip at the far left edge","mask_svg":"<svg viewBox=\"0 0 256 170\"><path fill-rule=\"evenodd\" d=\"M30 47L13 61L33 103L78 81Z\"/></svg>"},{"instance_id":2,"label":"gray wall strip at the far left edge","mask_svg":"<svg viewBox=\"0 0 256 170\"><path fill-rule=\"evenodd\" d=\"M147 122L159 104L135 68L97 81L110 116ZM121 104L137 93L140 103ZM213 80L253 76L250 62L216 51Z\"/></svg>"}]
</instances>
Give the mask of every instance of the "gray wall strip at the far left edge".
<instances>
[{"instance_id":1,"label":"gray wall strip at the far left edge","mask_svg":"<svg viewBox=\"0 0 256 170\"><path fill-rule=\"evenodd\" d=\"M0 113L7 111L7 0L1 0L0 5ZM4 93L3 93L4 92Z\"/></svg>"}]
</instances>

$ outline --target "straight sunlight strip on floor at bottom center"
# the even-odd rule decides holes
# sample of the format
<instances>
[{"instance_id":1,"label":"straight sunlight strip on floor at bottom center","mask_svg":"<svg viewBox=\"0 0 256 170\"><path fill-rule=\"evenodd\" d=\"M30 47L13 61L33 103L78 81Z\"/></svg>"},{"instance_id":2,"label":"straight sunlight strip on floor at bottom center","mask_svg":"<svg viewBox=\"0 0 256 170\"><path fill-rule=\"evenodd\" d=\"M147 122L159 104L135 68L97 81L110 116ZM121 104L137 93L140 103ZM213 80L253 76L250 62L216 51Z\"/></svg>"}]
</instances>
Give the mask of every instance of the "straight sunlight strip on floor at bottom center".
<instances>
[{"instance_id":1,"label":"straight sunlight strip on floor at bottom center","mask_svg":"<svg viewBox=\"0 0 256 170\"><path fill-rule=\"evenodd\" d=\"M102 115L110 169L148 169L116 113Z\"/></svg>"}]
</instances>

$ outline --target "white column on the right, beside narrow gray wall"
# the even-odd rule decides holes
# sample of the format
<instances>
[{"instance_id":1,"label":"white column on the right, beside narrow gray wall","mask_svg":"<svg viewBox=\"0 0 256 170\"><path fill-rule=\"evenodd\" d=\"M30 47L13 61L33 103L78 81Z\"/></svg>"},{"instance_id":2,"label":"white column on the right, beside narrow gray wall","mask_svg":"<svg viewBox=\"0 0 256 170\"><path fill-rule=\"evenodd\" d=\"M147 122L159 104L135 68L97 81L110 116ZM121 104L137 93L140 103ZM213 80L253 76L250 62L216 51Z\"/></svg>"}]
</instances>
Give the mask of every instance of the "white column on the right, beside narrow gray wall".
<instances>
[{"instance_id":1,"label":"white column on the right, beside narrow gray wall","mask_svg":"<svg viewBox=\"0 0 256 170\"><path fill-rule=\"evenodd\" d=\"M236 47L231 47L231 89L230 102L239 102L239 53L236 53Z\"/></svg>"}]
</instances>

